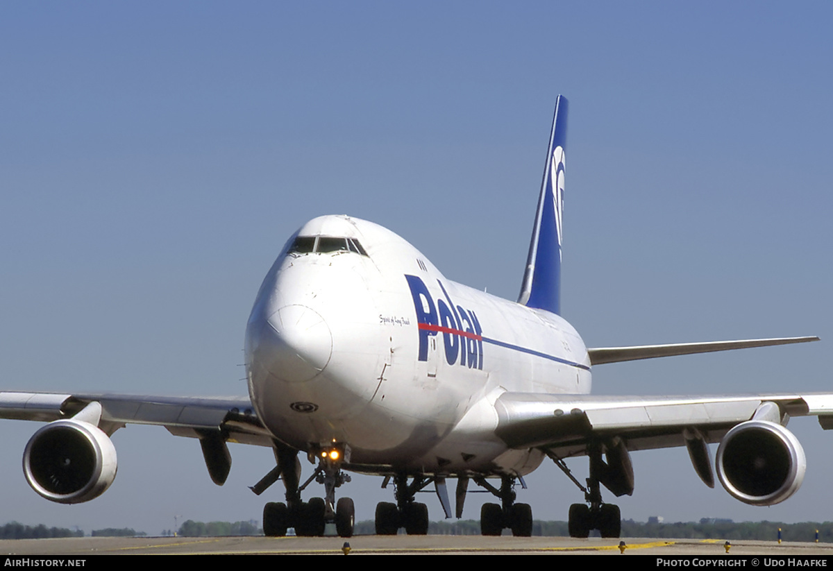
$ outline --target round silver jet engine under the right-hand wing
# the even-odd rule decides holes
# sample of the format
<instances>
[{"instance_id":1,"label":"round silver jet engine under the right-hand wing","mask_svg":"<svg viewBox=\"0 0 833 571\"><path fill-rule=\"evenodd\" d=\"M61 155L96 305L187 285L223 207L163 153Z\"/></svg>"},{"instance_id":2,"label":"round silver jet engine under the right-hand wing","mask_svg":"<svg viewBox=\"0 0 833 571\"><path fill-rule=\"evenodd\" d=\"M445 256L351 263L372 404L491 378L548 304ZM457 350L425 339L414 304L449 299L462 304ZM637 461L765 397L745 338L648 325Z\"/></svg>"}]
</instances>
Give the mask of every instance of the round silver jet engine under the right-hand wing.
<instances>
[{"instance_id":1,"label":"round silver jet engine under the right-hand wing","mask_svg":"<svg viewBox=\"0 0 833 571\"><path fill-rule=\"evenodd\" d=\"M741 502L772 505L801 488L807 467L804 449L786 428L769 420L747 420L721 440L717 477Z\"/></svg>"}]
</instances>

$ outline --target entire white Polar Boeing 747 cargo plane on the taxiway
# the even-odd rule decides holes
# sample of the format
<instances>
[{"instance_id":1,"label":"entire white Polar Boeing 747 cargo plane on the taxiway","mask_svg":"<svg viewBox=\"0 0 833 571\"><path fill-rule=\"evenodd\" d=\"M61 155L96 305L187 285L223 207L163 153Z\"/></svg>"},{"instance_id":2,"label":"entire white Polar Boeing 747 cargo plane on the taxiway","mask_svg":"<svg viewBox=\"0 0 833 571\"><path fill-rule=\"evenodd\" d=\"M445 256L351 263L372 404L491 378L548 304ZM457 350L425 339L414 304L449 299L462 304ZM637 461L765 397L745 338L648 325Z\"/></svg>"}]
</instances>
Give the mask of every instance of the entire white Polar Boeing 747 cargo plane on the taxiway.
<instances>
[{"instance_id":1,"label":"entire white Polar Boeing 747 cargo plane on the taxiway","mask_svg":"<svg viewBox=\"0 0 833 571\"><path fill-rule=\"evenodd\" d=\"M685 446L696 473L716 473L735 498L770 505L795 493L801 444L785 426L817 415L833 427L833 394L623 397L591 395L591 370L616 361L817 340L797 337L586 348L561 317L561 212L567 102L558 97L526 271L516 301L446 279L414 246L352 216L322 216L296 231L257 293L246 329L249 394L237 399L151 395L0 393L0 418L46 421L23 454L38 494L85 502L116 475L110 437L127 423L163 425L199 440L213 481L231 468L227 442L272 449L276 466L252 489L282 479L263 529L320 535L327 522L353 533L349 472L392 483L377 504L378 534L426 534L416 492L436 490L446 517L461 517L472 486L496 497L481 530L530 535L532 509L514 487L551 459L583 495L570 533L618 537L620 512L606 496L632 494L631 452ZM315 469L302 480L300 456ZM565 459L586 456L581 484ZM452 494L448 482L456 481ZM309 485L321 497L302 501ZM452 508L451 495L455 499ZM339 497L337 497L339 496Z\"/></svg>"}]
</instances>

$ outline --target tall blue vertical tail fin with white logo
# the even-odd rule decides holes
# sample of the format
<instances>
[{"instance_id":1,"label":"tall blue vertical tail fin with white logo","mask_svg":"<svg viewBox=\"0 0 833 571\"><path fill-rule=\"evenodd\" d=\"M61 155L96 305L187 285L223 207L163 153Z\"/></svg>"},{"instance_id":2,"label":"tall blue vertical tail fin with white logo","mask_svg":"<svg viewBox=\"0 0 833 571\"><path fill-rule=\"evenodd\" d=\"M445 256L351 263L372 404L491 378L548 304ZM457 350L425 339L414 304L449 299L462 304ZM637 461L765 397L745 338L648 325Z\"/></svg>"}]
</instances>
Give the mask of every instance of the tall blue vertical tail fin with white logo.
<instances>
[{"instance_id":1,"label":"tall blue vertical tail fin with white logo","mask_svg":"<svg viewBox=\"0 0 833 571\"><path fill-rule=\"evenodd\" d=\"M544 179L526 270L518 303L561 314L561 211L564 207L564 152L567 134L567 100L556 99L550 146L546 151Z\"/></svg>"}]
</instances>

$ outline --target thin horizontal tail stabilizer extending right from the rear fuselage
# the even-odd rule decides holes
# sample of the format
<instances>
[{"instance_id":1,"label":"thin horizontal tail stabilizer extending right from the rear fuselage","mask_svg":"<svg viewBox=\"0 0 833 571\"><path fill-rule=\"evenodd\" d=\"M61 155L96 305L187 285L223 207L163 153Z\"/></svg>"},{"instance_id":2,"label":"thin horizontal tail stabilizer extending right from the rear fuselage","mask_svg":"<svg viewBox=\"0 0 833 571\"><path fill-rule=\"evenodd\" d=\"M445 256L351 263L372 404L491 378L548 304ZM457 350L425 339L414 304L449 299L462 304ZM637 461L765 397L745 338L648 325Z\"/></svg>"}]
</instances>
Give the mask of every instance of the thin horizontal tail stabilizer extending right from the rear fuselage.
<instances>
[{"instance_id":1,"label":"thin horizontal tail stabilizer extending right from the rear fuselage","mask_svg":"<svg viewBox=\"0 0 833 571\"><path fill-rule=\"evenodd\" d=\"M818 337L780 337L777 339L672 343L670 345L640 345L637 347L601 347L599 349L588 349L587 354L590 355L591 365L602 365L604 363L619 363L621 361L653 359L655 357L693 355L695 353L711 353L712 351L728 351L748 347L768 347L770 345L789 345L817 340L819 340Z\"/></svg>"}]
</instances>

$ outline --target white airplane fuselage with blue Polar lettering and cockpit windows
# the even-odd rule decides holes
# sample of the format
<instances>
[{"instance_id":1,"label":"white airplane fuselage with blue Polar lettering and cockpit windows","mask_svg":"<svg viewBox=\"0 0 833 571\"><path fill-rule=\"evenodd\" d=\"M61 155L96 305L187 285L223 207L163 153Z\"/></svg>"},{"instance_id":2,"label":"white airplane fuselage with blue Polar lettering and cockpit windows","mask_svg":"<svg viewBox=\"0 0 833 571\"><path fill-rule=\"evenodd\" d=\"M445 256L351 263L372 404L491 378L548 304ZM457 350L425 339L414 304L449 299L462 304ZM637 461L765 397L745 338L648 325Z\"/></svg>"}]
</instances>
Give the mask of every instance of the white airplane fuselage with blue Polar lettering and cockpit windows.
<instances>
[{"instance_id":1,"label":"white airplane fuselage with blue Polar lettering and cockpit windows","mask_svg":"<svg viewBox=\"0 0 833 571\"><path fill-rule=\"evenodd\" d=\"M246 357L276 439L347 443L367 471L526 474L541 453L496 437L497 397L591 387L586 347L560 316L448 281L401 237L347 216L287 242L252 308Z\"/></svg>"}]
</instances>

